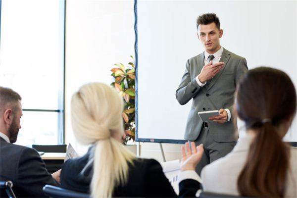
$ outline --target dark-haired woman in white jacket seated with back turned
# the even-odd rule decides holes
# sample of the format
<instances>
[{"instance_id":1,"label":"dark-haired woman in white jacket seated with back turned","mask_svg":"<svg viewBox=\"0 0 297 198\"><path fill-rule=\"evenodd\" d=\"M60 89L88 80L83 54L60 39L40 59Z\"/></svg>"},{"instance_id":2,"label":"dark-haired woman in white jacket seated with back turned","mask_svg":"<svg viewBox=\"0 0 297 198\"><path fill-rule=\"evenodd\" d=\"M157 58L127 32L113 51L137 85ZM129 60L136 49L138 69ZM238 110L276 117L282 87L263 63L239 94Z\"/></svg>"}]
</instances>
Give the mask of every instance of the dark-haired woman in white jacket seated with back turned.
<instances>
[{"instance_id":1,"label":"dark-haired woman in white jacket seated with back turned","mask_svg":"<svg viewBox=\"0 0 297 198\"><path fill-rule=\"evenodd\" d=\"M245 197L297 197L297 148L282 139L296 113L290 77L269 67L250 70L237 87L235 111L246 136L201 173L205 191ZM293 133L296 133L293 132Z\"/></svg>"}]
</instances>

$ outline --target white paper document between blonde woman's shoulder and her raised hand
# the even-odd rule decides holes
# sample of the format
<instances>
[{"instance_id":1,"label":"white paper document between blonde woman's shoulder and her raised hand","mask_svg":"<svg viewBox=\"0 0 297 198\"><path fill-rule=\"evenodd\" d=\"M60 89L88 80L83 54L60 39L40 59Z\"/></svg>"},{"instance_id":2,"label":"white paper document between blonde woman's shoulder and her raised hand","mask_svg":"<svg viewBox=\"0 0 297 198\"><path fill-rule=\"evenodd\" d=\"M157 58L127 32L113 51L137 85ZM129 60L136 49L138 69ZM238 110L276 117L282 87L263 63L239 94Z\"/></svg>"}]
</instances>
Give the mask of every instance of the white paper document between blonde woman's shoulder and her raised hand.
<instances>
[{"instance_id":1,"label":"white paper document between blonde woman's shoulder and her raised hand","mask_svg":"<svg viewBox=\"0 0 297 198\"><path fill-rule=\"evenodd\" d=\"M178 195L179 188L178 188L177 177L178 177L178 174L180 173L179 159L162 162L161 166L163 168L163 172L164 172L165 176L171 183L171 186L173 187L175 193Z\"/></svg>"}]
</instances>

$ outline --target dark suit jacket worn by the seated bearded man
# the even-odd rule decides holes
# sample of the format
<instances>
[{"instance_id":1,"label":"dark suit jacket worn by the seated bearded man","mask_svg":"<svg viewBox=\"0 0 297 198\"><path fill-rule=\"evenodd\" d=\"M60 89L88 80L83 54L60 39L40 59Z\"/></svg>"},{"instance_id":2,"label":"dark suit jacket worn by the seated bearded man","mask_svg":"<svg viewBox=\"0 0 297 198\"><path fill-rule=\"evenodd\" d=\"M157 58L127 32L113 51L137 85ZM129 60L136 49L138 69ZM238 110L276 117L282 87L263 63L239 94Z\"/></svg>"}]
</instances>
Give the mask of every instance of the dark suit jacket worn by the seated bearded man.
<instances>
[{"instance_id":1,"label":"dark suit jacket worn by the seated bearded man","mask_svg":"<svg viewBox=\"0 0 297 198\"><path fill-rule=\"evenodd\" d=\"M0 138L0 180L10 180L18 197L45 197L42 188L58 186L46 169L39 153L28 147L13 145ZM6 195L1 191L1 197Z\"/></svg>"}]
</instances>

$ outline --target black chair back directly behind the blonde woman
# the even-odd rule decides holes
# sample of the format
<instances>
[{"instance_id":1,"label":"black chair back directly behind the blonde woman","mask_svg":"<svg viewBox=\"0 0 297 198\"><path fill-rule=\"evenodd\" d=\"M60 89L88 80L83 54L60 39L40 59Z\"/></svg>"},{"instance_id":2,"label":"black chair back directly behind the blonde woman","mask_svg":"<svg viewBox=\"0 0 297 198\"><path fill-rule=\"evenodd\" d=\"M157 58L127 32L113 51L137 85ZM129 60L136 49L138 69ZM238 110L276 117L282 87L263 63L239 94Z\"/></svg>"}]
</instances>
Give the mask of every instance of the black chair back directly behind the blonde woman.
<instances>
[{"instance_id":1,"label":"black chair back directly behind the blonde woman","mask_svg":"<svg viewBox=\"0 0 297 198\"><path fill-rule=\"evenodd\" d=\"M88 194L62 189L51 185L45 185L43 187L43 192L49 198L91 198Z\"/></svg>"}]
</instances>

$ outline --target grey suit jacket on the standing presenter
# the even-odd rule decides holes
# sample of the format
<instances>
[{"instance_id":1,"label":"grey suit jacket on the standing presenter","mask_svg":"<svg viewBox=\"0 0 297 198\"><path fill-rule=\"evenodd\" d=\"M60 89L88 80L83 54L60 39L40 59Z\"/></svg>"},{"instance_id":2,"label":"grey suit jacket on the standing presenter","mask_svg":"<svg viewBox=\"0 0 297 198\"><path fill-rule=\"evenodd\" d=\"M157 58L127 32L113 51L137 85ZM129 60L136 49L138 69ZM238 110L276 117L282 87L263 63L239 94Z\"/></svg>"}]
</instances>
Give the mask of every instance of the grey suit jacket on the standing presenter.
<instances>
[{"instance_id":1,"label":"grey suit jacket on the standing presenter","mask_svg":"<svg viewBox=\"0 0 297 198\"><path fill-rule=\"evenodd\" d=\"M247 61L244 57L224 49L220 62L225 62L224 67L203 87L198 85L195 78L204 66L204 53L188 59L186 63L185 73L176 90L176 99L180 104L186 104L193 99L184 136L186 140L195 141L200 134L202 120L198 116L199 111L220 108L230 110L231 120L224 124L209 121L208 128L212 138L216 142L234 142L238 139L234 135L232 108L236 84L247 72Z\"/></svg>"}]
</instances>

